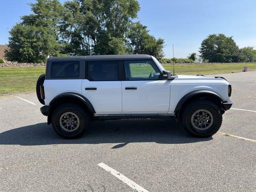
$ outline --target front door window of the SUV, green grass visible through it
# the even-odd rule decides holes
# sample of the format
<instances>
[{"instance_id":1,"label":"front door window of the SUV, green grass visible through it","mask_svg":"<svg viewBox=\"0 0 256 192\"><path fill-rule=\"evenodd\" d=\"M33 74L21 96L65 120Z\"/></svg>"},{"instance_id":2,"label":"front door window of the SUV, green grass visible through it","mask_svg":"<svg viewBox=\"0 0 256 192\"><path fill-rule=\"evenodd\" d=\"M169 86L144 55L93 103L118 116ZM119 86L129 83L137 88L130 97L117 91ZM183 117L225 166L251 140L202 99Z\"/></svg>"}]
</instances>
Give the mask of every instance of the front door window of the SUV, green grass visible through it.
<instances>
[{"instance_id":1,"label":"front door window of the SUV, green grass visible through it","mask_svg":"<svg viewBox=\"0 0 256 192\"><path fill-rule=\"evenodd\" d=\"M152 60L125 61L126 80L159 80L160 70Z\"/></svg>"}]
</instances>

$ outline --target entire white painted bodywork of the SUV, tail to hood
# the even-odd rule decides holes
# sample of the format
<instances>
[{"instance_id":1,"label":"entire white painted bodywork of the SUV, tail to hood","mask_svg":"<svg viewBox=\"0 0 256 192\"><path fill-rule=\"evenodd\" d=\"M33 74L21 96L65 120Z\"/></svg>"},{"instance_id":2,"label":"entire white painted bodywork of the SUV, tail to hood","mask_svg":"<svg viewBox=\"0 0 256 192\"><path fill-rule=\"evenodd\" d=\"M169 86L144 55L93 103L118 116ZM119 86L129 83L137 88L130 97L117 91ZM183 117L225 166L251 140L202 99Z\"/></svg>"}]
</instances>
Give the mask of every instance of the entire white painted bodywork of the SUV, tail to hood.
<instances>
[{"instance_id":1,"label":"entire white painted bodywork of the SUV, tail to hood","mask_svg":"<svg viewBox=\"0 0 256 192\"><path fill-rule=\"evenodd\" d=\"M160 71L162 65L155 59ZM96 114L173 114L188 93L209 90L228 101L228 82L222 78L178 75L174 80L89 81L87 79L45 80L45 104L62 93L86 97ZM126 90L136 87L136 90ZM97 88L97 90L85 90Z\"/></svg>"}]
</instances>

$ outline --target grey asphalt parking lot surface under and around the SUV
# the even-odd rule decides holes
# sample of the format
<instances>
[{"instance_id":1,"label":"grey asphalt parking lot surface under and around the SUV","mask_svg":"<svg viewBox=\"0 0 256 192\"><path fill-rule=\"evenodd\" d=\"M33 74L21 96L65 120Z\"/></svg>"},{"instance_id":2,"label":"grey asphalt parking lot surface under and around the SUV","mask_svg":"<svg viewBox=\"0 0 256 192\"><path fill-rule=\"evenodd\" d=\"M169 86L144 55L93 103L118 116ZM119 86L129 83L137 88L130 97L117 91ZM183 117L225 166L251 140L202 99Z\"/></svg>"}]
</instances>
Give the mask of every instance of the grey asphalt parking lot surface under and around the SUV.
<instances>
[{"instance_id":1,"label":"grey asphalt parking lot surface under and around the SUV","mask_svg":"<svg viewBox=\"0 0 256 192\"><path fill-rule=\"evenodd\" d=\"M220 132L250 140L193 138L163 119L92 122L65 140L35 93L0 96L0 191L256 191L256 72L211 76L232 84Z\"/></svg>"}]
</instances>

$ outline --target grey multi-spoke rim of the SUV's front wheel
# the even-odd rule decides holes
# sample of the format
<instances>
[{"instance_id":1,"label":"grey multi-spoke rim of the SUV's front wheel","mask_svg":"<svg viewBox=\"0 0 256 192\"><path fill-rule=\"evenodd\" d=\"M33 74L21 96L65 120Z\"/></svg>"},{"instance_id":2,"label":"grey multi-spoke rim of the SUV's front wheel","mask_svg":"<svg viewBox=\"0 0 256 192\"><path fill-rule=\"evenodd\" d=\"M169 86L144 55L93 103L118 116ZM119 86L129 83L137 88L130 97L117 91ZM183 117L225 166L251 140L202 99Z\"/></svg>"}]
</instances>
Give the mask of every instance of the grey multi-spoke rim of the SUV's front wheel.
<instances>
[{"instance_id":1,"label":"grey multi-spoke rim of the SUV's front wheel","mask_svg":"<svg viewBox=\"0 0 256 192\"><path fill-rule=\"evenodd\" d=\"M191 124L198 130L206 130L213 124L212 113L206 109L200 109L191 116Z\"/></svg>"}]
</instances>

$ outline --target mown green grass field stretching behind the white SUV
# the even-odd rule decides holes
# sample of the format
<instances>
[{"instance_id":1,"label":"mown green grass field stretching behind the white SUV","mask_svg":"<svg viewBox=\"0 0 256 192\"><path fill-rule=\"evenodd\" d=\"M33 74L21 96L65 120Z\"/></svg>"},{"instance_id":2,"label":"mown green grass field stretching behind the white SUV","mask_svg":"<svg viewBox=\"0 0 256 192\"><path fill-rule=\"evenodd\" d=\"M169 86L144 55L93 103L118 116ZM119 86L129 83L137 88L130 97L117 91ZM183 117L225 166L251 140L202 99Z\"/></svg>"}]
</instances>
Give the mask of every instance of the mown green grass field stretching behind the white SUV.
<instances>
[{"instance_id":1,"label":"mown green grass field stretching behind the white SUV","mask_svg":"<svg viewBox=\"0 0 256 192\"><path fill-rule=\"evenodd\" d=\"M175 66L176 74L217 74L242 71L244 66L256 70L255 63L245 64L201 64ZM172 70L172 65L164 65L166 70ZM148 70L145 70L148 71ZM40 74L45 73L44 67L0 68L0 94L31 91L36 88ZM149 74L148 74L149 75Z\"/></svg>"}]
</instances>

